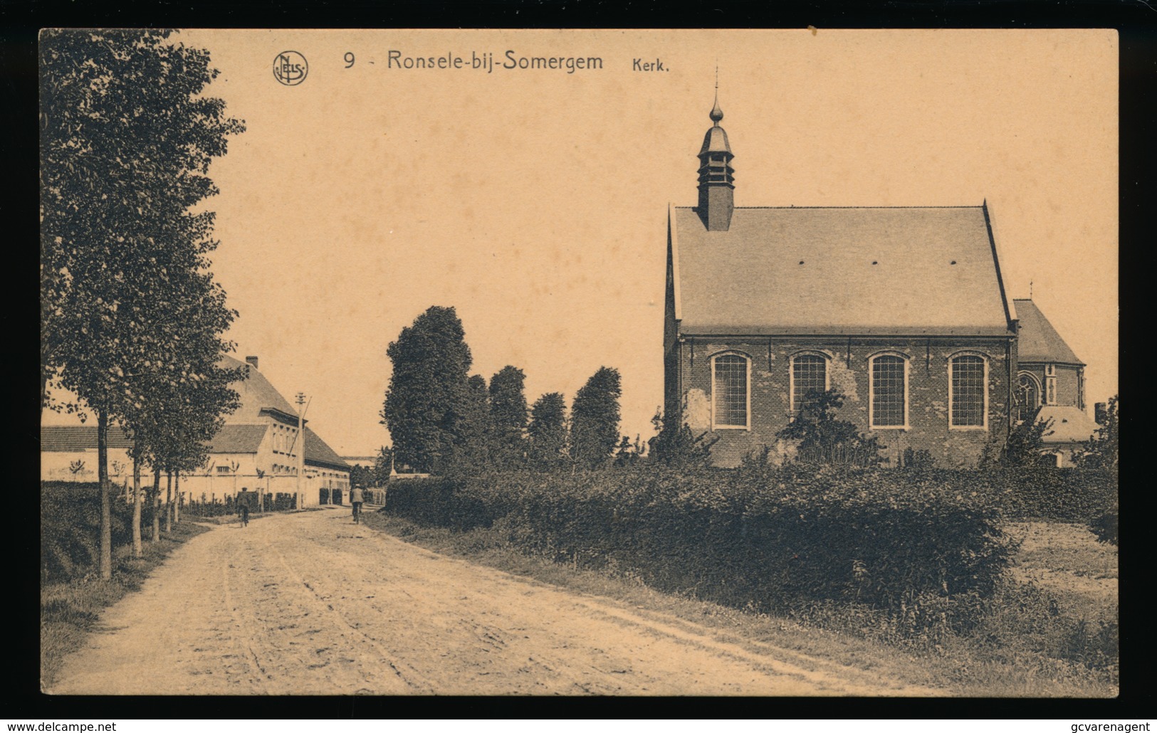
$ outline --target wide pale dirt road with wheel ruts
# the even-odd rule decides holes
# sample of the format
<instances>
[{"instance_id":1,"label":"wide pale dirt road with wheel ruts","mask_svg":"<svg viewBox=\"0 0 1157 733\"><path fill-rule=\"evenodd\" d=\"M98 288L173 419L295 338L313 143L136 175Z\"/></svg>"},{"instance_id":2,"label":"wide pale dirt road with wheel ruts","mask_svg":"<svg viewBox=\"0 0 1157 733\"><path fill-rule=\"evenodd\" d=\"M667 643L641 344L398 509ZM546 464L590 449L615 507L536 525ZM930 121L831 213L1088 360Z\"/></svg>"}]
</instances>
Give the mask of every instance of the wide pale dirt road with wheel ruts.
<instances>
[{"instance_id":1,"label":"wide pale dirt road with wheel ruts","mask_svg":"<svg viewBox=\"0 0 1157 733\"><path fill-rule=\"evenodd\" d=\"M336 509L196 536L101 622L50 693L930 694L437 555Z\"/></svg>"}]
</instances>

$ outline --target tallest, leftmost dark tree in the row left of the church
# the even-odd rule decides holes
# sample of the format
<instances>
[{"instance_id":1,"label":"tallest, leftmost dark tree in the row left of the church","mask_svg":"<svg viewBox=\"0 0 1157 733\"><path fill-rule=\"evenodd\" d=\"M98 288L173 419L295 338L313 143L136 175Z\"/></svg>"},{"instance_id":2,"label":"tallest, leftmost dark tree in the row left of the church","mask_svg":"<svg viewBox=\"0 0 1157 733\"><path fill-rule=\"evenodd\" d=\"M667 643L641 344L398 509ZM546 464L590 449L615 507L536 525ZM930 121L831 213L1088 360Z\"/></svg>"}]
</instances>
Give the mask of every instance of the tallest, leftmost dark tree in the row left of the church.
<instances>
[{"instance_id":1,"label":"tallest, leftmost dark tree in the row left of the church","mask_svg":"<svg viewBox=\"0 0 1157 733\"><path fill-rule=\"evenodd\" d=\"M448 467L466 446L477 412L466 384L473 360L455 309L430 306L386 355L393 373L381 415L398 462L423 473Z\"/></svg>"}]
</instances>

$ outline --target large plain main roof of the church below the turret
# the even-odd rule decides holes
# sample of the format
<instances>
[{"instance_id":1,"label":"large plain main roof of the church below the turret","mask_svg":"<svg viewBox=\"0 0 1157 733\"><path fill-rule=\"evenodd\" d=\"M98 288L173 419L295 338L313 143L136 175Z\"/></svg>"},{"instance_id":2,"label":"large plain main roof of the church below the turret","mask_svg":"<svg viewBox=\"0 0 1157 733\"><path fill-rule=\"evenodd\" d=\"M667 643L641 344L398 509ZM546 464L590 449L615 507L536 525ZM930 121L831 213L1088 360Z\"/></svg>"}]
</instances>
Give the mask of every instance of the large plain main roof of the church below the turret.
<instances>
[{"instance_id":1,"label":"large plain main roof of the church below the turret","mask_svg":"<svg viewBox=\"0 0 1157 733\"><path fill-rule=\"evenodd\" d=\"M684 334L1009 335L987 210L672 207Z\"/></svg>"}]
</instances>

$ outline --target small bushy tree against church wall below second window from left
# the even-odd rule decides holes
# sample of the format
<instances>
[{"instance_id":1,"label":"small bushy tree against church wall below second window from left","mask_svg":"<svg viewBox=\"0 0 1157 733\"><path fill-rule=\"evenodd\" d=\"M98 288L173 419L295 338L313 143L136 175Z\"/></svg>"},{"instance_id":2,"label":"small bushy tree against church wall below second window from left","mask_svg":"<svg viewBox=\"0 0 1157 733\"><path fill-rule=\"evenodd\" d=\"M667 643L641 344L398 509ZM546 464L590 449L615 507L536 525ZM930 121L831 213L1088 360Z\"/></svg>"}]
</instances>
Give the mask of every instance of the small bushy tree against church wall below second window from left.
<instances>
[{"instance_id":1,"label":"small bushy tree against church wall below second window from left","mask_svg":"<svg viewBox=\"0 0 1157 733\"><path fill-rule=\"evenodd\" d=\"M839 390L809 390L795 420L776 434L781 440L796 440L796 460L804 464L878 466L887 459L875 436L860 432L855 423L840 420L843 407Z\"/></svg>"}]
</instances>

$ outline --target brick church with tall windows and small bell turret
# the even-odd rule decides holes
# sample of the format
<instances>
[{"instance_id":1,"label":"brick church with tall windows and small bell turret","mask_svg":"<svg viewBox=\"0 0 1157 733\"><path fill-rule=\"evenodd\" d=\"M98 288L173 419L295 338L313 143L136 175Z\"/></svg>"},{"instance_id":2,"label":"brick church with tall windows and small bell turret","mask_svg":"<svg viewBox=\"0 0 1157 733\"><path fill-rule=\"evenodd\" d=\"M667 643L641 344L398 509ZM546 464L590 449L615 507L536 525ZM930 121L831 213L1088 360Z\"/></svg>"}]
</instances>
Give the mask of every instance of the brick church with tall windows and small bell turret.
<instances>
[{"instance_id":1,"label":"brick church with tall windows and small bell turret","mask_svg":"<svg viewBox=\"0 0 1157 733\"><path fill-rule=\"evenodd\" d=\"M737 207L717 101L709 117L698 205L668 210L663 351L664 409L716 439L716 465L789 452L776 432L813 390L838 388L893 466L975 465L1018 398L1083 415L1084 364L1007 297L987 202Z\"/></svg>"}]
</instances>

